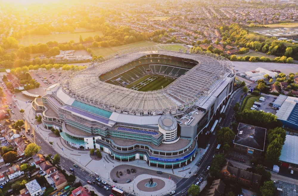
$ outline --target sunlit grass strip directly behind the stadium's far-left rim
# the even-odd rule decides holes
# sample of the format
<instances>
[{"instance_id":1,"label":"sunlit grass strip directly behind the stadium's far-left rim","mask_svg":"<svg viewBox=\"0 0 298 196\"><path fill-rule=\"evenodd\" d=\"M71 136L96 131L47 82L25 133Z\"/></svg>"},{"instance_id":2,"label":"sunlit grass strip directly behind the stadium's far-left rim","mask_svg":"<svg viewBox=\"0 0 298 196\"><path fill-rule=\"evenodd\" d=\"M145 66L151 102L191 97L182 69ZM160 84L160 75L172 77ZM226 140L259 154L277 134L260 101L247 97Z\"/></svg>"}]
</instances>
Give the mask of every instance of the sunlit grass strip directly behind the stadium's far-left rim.
<instances>
[{"instance_id":1,"label":"sunlit grass strip directly behind the stadium's far-left rim","mask_svg":"<svg viewBox=\"0 0 298 196\"><path fill-rule=\"evenodd\" d=\"M143 46L154 46L156 43L154 42L148 42L148 41L139 41L136 43L129 43L122 46L114 46L114 47L108 47L108 48L91 48L91 53L95 56L108 56L111 54L114 54L120 50L130 49L130 48L137 48L137 47L143 47Z\"/></svg>"}]
</instances>

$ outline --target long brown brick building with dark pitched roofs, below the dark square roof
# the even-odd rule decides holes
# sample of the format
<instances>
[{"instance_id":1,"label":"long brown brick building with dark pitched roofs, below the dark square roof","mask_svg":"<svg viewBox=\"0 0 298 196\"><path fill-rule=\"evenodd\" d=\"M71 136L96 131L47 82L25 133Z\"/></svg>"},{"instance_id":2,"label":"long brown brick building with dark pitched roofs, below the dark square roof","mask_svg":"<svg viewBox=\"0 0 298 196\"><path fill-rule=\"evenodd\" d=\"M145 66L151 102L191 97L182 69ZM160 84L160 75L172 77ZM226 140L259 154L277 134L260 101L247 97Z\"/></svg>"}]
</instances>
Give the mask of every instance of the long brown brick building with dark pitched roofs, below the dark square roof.
<instances>
[{"instance_id":1,"label":"long brown brick building with dark pitched roofs, below the dark square roof","mask_svg":"<svg viewBox=\"0 0 298 196\"><path fill-rule=\"evenodd\" d=\"M261 175L234 167L229 161L226 161L221 169L222 180L241 186L252 187L254 190L259 189L261 178Z\"/></svg>"}]
</instances>

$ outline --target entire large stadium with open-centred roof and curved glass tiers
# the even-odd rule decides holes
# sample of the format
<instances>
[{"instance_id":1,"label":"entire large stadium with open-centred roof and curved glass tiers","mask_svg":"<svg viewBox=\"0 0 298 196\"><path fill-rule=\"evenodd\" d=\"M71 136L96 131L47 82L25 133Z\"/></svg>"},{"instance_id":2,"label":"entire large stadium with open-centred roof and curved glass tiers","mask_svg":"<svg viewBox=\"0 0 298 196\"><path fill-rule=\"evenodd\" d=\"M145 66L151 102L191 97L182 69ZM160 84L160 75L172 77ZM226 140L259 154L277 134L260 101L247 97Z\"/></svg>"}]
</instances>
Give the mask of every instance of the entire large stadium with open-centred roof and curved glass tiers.
<instances>
[{"instance_id":1,"label":"entire large stadium with open-centred roof and curved glass tiers","mask_svg":"<svg viewBox=\"0 0 298 196\"><path fill-rule=\"evenodd\" d=\"M219 55L130 49L65 72L32 107L71 147L177 168L193 161L234 80L232 63Z\"/></svg>"}]
</instances>

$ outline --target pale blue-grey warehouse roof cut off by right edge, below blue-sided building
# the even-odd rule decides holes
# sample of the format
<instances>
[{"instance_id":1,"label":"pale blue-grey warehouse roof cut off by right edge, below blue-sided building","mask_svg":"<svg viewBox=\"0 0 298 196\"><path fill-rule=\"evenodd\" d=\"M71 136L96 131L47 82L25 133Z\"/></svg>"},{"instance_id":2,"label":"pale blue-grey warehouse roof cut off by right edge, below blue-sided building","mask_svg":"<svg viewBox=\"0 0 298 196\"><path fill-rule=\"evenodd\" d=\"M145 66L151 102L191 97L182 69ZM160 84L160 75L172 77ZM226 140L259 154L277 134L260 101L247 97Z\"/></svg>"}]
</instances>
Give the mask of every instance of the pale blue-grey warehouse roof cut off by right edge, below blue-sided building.
<instances>
[{"instance_id":1,"label":"pale blue-grey warehouse roof cut off by right edge, below blue-sided building","mask_svg":"<svg viewBox=\"0 0 298 196\"><path fill-rule=\"evenodd\" d=\"M280 161L298 165L298 137L286 135L281 149Z\"/></svg>"}]
</instances>

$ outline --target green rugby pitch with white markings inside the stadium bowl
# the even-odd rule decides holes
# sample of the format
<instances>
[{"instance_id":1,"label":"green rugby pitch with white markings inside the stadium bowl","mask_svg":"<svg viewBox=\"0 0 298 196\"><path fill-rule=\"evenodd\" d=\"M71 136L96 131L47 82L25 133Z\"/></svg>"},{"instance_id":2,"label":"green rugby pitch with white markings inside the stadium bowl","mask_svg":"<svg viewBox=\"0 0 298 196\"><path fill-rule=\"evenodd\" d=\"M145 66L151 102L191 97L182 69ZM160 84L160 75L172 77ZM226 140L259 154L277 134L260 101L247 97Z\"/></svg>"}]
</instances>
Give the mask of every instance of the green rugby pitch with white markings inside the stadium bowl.
<instances>
[{"instance_id":1,"label":"green rugby pitch with white markings inside the stadium bowl","mask_svg":"<svg viewBox=\"0 0 298 196\"><path fill-rule=\"evenodd\" d=\"M175 79L169 77L166 78L160 75L147 75L127 85L126 88L131 88L137 91L155 91L165 88L173 81L175 81Z\"/></svg>"}]
</instances>

